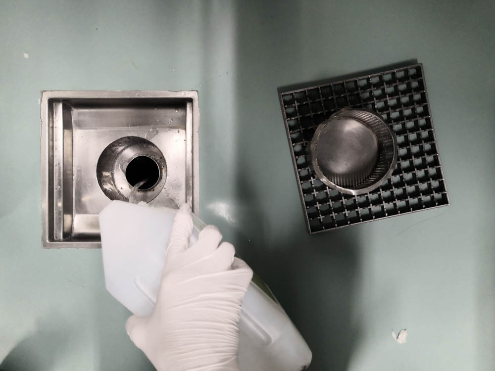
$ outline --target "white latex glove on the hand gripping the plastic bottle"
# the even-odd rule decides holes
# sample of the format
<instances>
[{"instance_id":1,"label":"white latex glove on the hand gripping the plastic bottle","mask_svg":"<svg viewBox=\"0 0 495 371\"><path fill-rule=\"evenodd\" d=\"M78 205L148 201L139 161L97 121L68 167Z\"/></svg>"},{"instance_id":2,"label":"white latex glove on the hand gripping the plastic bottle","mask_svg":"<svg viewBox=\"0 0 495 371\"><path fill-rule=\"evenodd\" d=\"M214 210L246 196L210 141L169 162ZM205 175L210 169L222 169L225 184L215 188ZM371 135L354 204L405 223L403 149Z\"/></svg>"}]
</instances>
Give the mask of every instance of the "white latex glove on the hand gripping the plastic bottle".
<instances>
[{"instance_id":1,"label":"white latex glove on the hand gripping the plastic bottle","mask_svg":"<svg viewBox=\"0 0 495 371\"><path fill-rule=\"evenodd\" d=\"M188 248L191 209L177 212L156 305L126 330L158 371L238 371L239 318L252 271L213 226Z\"/></svg>"}]
</instances>

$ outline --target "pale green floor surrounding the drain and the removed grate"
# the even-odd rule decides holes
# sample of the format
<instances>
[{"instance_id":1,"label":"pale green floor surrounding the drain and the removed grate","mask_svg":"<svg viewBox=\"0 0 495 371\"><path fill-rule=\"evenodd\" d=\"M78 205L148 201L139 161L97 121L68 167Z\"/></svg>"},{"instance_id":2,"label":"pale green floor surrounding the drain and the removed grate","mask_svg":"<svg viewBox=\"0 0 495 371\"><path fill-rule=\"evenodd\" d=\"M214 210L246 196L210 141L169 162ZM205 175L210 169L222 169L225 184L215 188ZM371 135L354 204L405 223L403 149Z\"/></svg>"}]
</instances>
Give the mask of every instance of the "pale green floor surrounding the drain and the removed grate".
<instances>
[{"instance_id":1,"label":"pale green floor surrounding the drain and the removed grate","mask_svg":"<svg viewBox=\"0 0 495 371\"><path fill-rule=\"evenodd\" d=\"M198 90L201 218L271 286L310 370L494 370L494 16L490 1L1 1L1 368L152 369L101 252L41 249L39 97L156 89ZM451 205L310 236L277 88L410 59Z\"/></svg>"}]
</instances>

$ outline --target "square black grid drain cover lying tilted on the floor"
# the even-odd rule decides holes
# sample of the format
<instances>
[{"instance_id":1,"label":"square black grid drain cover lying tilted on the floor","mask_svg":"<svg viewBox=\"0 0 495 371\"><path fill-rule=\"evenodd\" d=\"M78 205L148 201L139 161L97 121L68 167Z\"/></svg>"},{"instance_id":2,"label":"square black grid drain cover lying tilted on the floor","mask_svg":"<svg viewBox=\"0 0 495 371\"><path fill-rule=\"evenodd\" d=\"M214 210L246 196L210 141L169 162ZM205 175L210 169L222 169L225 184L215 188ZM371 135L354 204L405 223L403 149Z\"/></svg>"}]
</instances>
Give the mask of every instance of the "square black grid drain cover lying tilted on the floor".
<instances>
[{"instance_id":1,"label":"square black grid drain cover lying tilted on the floor","mask_svg":"<svg viewBox=\"0 0 495 371\"><path fill-rule=\"evenodd\" d=\"M310 233L448 205L421 64L283 92L280 100ZM398 145L392 176L357 196L320 182L307 156L316 127L349 106L382 115Z\"/></svg>"}]
</instances>

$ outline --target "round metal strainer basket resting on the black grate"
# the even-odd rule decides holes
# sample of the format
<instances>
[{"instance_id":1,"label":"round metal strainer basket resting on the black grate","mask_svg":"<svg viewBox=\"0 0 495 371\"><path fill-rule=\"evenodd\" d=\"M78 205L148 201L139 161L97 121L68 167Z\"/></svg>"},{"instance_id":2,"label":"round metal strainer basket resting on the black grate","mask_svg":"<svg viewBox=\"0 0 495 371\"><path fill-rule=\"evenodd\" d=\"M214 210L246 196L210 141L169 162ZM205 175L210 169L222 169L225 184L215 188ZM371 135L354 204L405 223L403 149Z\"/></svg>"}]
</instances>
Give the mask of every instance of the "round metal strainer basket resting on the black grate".
<instances>
[{"instance_id":1,"label":"round metal strainer basket resting on the black grate","mask_svg":"<svg viewBox=\"0 0 495 371\"><path fill-rule=\"evenodd\" d=\"M397 139L372 111L343 108L311 140L311 166L322 183L348 194L367 193L391 176Z\"/></svg>"}]
</instances>

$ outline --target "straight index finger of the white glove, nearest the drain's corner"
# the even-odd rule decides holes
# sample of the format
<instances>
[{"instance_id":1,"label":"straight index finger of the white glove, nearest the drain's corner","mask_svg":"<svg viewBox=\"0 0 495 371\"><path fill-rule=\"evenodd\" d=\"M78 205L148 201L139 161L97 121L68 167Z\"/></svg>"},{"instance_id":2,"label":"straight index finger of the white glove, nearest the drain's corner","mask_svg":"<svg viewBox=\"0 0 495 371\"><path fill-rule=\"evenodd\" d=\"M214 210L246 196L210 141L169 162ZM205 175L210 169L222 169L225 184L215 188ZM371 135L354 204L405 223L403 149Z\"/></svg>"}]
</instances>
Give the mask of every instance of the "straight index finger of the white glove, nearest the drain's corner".
<instances>
[{"instance_id":1,"label":"straight index finger of the white glove, nearest the drain's corner","mask_svg":"<svg viewBox=\"0 0 495 371\"><path fill-rule=\"evenodd\" d=\"M175 214L165 264L170 264L180 253L187 250L192 233L193 219L191 218L191 208L188 204L184 204Z\"/></svg>"}]
</instances>

